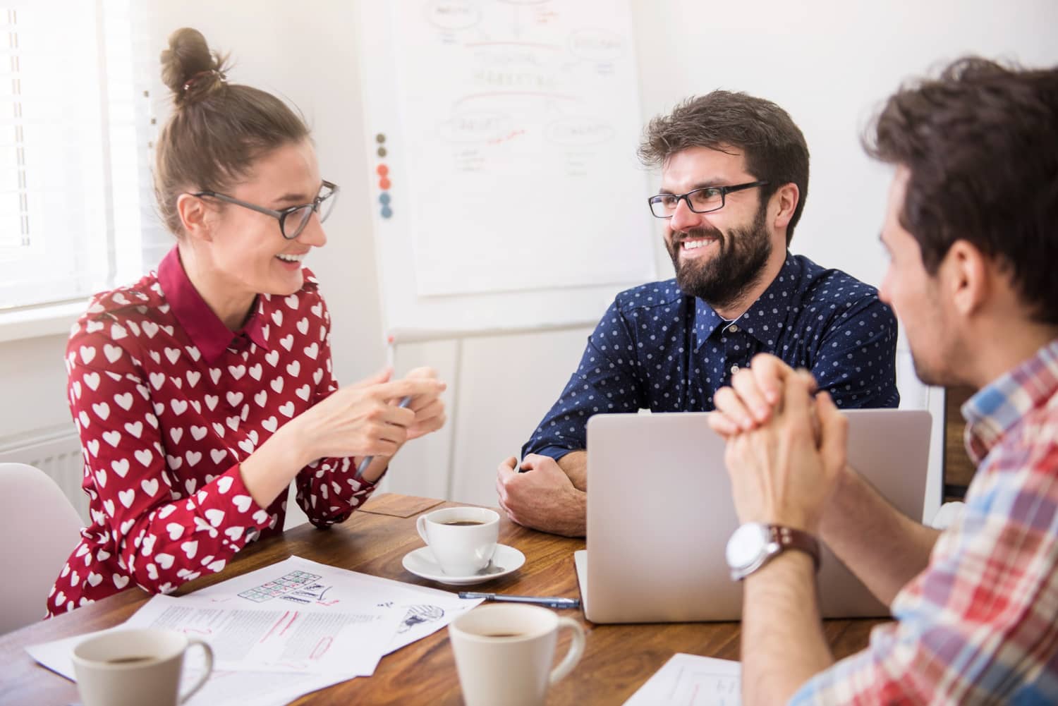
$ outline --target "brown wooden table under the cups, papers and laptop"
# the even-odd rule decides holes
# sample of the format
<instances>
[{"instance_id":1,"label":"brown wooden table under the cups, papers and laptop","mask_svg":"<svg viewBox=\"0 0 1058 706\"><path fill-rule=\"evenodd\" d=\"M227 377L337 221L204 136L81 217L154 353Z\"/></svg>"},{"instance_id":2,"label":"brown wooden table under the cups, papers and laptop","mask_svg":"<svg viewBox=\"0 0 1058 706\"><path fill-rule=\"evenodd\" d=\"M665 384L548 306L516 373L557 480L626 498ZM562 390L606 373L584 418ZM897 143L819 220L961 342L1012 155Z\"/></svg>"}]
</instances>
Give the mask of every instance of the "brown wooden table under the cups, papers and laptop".
<instances>
[{"instance_id":1,"label":"brown wooden table under the cups, papers and laptop","mask_svg":"<svg viewBox=\"0 0 1058 706\"><path fill-rule=\"evenodd\" d=\"M251 572L290 556L382 576L407 583L458 591L404 571L401 559L422 546L417 514L453 503L383 494L329 530L305 524L282 537L251 544L223 572L183 586L177 595ZM526 564L510 576L475 586L496 593L580 597L573 551L584 540L526 529L504 519L499 541L521 549ZM133 589L51 620L0 636L0 704L65 705L77 701L76 686L44 669L25 652L28 645L115 626L142 607L149 595ZM738 623L597 626L580 611L561 611L581 621L587 633L584 656L555 685L548 704L621 704L676 652L738 658ZM835 657L868 644L880 620L827 620L824 632ZM565 652L568 637L558 651ZM383 657L373 676L357 678L303 696L297 704L451 704L462 703L448 630L442 629Z\"/></svg>"}]
</instances>

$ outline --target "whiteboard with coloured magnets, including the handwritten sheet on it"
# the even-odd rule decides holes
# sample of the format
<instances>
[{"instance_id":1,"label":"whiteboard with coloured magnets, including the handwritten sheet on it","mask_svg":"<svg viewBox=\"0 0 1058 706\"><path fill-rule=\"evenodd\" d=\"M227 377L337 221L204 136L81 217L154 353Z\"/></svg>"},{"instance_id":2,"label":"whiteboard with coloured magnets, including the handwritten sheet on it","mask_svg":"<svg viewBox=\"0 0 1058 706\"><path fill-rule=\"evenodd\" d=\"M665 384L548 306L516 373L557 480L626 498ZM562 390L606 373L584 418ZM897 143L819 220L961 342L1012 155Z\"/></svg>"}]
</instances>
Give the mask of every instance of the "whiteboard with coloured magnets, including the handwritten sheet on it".
<instances>
[{"instance_id":1,"label":"whiteboard with coloured magnets, including the handwritten sheet on it","mask_svg":"<svg viewBox=\"0 0 1058 706\"><path fill-rule=\"evenodd\" d=\"M655 278L628 0L361 7L387 331L594 323Z\"/></svg>"}]
</instances>

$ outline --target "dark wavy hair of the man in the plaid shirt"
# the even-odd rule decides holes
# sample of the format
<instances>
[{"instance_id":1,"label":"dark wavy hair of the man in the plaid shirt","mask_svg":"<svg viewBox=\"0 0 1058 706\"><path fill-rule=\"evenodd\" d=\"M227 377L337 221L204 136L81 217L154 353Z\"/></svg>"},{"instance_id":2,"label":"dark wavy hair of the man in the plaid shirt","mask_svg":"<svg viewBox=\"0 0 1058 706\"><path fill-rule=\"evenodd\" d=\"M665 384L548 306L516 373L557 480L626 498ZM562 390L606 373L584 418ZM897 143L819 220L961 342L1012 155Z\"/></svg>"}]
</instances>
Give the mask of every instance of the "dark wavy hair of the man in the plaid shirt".
<instances>
[{"instance_id":1,"label":"dark wavy hair of the man in the plaid shirt","mask_svg":"<svg viewBox=\"0 0 1058 706\"><path fill-rule=\"evenodd\" d=\"M952 243L996 258L1040 322L1058 324L1058 68L964 57L906 84L863 138L906 166L900 224L936 272Z\"/></svg>"}]
</instances>

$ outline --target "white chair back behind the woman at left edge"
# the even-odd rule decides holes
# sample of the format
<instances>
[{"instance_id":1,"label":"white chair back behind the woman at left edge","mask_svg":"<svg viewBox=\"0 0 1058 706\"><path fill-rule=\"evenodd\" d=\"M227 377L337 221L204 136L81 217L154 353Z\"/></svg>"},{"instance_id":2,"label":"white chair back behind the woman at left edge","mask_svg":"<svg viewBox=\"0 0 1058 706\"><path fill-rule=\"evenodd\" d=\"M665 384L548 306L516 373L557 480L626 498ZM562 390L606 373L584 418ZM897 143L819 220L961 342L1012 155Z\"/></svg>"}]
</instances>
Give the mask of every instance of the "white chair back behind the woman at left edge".
<instances>
[{"instance_id":1,"label":"white chair back behind the woman at left edge","mask_svg":"<svg viewBox=\"0 0 1058 706\"><path fill-rule=\"evenodd\" d=\"M43 471L0 464L0 634L44 617L48 592L77 545L80 515Z\"/></svg>"}]
</instances>

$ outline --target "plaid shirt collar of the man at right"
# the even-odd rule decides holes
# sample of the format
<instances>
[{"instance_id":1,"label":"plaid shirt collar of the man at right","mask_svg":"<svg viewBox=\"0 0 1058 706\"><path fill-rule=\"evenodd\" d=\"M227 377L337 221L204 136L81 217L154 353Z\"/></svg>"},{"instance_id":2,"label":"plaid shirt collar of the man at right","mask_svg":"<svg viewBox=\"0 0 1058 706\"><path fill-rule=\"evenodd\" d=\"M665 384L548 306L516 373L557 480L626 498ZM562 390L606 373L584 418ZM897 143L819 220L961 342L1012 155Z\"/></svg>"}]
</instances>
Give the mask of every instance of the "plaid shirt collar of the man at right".
<instances>
[{"instance_id":1,"label":"plaid shirt collar of the man at right","mask_svg":"<svg viewBox=\"0 0 1058 706\"><path fill-rule=\"evenodd\" d=\"M1058 339L966 400L965 442L973 463L988 452L1026 414L1058 393Z\"/></svg>"}]
</instances>

